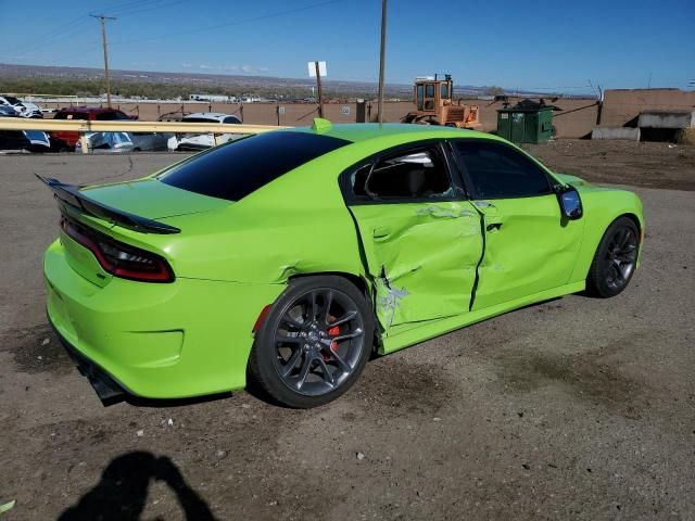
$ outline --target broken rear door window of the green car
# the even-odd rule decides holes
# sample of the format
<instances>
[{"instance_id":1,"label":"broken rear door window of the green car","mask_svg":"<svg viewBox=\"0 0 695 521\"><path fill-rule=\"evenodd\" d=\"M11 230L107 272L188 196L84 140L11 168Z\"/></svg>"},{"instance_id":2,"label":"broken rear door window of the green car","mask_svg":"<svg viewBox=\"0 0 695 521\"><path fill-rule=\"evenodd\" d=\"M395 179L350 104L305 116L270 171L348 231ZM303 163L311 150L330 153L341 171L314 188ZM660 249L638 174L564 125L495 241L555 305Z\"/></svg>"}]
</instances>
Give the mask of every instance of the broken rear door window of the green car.
<instances>
[{"instance_id":1,"label":"broken rear door window of the green car","mask_svg":"<svg viewBox=\"0 0 695 521\"><path fill-rule=\"evenodd\" d=\"M361 201L408 202L454 195L446 162L434 145L402 151L364 165L351 174L350 185Z\"/></svg>"}]
</instances>

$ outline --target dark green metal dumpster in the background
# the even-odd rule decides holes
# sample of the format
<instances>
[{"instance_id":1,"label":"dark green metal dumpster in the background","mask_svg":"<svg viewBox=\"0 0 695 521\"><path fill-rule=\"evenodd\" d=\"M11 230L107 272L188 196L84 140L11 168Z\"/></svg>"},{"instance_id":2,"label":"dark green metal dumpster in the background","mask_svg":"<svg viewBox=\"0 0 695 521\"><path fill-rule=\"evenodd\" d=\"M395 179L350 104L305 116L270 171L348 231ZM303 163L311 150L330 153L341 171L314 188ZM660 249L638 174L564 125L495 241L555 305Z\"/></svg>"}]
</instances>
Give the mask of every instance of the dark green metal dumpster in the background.
<instances>
[{"instance_id":1,"label":"dark green metal dumpster in the background","mask_svg":"<svg viewBox=\"0 0 695 521\"><path fill-rule=\"evenodd\" d=\"M522 100L497 111L497 136L514 143L541 143L553 137L553 109L543 101Z\"/></svg>"}]
</instances>

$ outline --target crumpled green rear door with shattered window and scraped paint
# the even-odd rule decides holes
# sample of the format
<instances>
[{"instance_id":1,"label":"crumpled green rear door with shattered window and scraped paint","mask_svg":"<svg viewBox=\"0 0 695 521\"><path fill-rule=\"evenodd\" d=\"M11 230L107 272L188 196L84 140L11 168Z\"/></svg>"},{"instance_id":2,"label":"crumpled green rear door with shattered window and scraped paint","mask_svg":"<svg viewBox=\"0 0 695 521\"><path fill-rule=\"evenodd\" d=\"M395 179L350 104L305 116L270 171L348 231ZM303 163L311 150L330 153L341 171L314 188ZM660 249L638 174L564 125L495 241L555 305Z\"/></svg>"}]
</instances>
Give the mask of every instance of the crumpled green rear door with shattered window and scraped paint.
<instances>
[{"instance_id":1,"label":"crumpled green rear door with shattered window and scraped paint","mask_svg":"<svg viewBox=\"0 0 695 521\"><path fill-rule=\"evenodd\" d=\"M452 183L440 145L363 165L349 185L387 334L393 326L467 313L482 255L480 217Z\"/></svg>"}]
</instances>

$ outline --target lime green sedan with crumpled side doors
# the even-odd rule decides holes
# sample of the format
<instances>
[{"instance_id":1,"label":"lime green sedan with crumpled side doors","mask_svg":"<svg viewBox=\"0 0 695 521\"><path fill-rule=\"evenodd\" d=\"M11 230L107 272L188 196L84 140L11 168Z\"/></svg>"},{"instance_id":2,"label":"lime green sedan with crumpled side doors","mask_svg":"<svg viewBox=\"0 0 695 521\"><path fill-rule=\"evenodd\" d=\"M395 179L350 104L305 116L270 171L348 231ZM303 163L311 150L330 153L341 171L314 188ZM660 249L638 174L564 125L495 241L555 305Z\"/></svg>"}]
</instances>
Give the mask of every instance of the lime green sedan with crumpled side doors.
<instances>
[{"instance_id":1,"label":"lime green sedan with crumpled side doors","mask_svg":"<svg viewBox=\"0 0 695 521\"><path fill-rule=\"evenodd\" d=\"M135 181L42 180L61 211L48 316L102 398L252 382L326 404L372 351L617 295L644 237L634 193L447 127L315 119Z\"/></svg>"}]
</instances>

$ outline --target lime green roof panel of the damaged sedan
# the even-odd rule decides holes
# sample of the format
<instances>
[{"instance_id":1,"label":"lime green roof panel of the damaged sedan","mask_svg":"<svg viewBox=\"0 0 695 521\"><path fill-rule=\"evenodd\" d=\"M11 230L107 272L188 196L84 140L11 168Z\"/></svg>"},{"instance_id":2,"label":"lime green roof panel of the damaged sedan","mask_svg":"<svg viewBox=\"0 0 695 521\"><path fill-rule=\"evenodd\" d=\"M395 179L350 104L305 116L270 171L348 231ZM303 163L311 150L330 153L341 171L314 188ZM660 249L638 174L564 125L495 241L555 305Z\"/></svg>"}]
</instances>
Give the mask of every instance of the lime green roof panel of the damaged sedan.
<instances>
[{"instance_id":1,"label":"lime green roof panel of the damaged sedan","mask_svg":"<svg viewBox=\"0 0 695 521\"><path fill-rule=\"evenodd\" d=\"M313 132L321 136L344 139L354 143L374 139L402 137L404 141L431 138L489 138L494 136L477 130L442 127L437 125L413 125L406 123L350 123L326 125L324 128L296 127L289 131Z\"/></svg>"}]
</instances>

